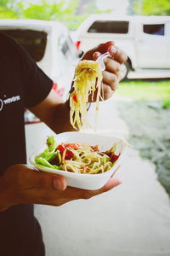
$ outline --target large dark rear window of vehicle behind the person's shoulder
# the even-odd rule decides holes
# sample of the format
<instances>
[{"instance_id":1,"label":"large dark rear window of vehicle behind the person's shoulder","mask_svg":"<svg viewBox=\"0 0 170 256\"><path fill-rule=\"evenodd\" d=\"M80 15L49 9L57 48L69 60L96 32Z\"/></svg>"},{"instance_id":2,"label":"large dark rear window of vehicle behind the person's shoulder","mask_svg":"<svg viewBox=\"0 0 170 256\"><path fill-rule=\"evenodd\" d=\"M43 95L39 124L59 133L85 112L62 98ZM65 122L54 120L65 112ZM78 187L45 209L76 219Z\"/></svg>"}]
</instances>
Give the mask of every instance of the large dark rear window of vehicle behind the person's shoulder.
<instances>
[{"instance_id":1,"label":"large dark rear window of vehicle behind the person's shoulder","mask_svg":"<svg viewBox=\"0 0 170 256\"><path fill-rule=\"evenodd\" d=\"M2 29L0 32L18 41L31 55L34 61L42 60L47 44L46 32L29 29Z\"/></svg>"}]
</instances>

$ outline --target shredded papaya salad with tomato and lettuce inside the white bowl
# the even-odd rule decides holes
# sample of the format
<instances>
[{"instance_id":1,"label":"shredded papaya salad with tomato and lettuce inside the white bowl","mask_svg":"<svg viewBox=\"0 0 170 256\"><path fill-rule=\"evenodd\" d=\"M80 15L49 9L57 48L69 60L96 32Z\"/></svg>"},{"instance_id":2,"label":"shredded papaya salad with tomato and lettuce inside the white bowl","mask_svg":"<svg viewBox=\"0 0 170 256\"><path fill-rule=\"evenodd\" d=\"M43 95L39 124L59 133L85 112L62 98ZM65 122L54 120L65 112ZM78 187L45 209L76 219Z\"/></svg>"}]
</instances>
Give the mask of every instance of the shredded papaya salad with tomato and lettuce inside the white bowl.
<instances>
[{"instance_id":1,"label":"shredded papaya salad with tomato and lettuce inside the white bowl","mask_svg":"<svg viewBox=\"0 0 170 256\"><path fill-rule=\"evenodd\" d=\"M120 153L116 144L109 150L100 152L98 145L87 143L59 143L54 136L48 137L47 146L42 154L35 157L37 167L48 167L65 172L97 174L107 172L116 163Z\"/></svg>"}]
</instances>

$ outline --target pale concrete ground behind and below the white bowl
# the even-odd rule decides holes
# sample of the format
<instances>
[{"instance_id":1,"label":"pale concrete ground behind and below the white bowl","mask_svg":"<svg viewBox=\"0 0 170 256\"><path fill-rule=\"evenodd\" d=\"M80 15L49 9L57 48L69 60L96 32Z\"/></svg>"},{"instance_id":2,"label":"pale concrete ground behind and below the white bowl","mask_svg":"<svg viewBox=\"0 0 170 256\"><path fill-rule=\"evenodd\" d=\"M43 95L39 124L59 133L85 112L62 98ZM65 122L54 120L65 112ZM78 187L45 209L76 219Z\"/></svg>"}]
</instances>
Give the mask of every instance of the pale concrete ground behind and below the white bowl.
<instances>
[{"instance_id":1,"label":"pale concrete ground behind and below the white bowl","mask_svg":"<svg viewBox=\"0 0 170 256\"><path fill-rule=\"evenodd\" d=\"M89 122L93 119L94 106ZM98 132L127 139L116 98L100 104ZM28 157L52 133L42 123L26 125ZM156 179L155 166L133 146L116 172L120 186L88 201L35 207L47 256L170 256L169 198Z\"/></svg>"}]
</instances>

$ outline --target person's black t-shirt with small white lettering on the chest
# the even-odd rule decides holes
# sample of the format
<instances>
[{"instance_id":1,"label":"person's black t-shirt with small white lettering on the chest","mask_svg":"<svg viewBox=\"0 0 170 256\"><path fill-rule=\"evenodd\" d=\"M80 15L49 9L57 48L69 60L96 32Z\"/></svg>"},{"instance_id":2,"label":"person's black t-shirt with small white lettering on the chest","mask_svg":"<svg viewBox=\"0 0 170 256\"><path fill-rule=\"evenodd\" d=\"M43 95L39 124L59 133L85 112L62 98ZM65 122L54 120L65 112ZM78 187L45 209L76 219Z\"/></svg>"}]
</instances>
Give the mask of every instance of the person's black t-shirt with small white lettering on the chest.
<instances>
[{"instance_id":1,"label":"person's black t-shirt with small white lettering on the chest","mask_svg":"<svg viewBox=\"0 0 170 256\"><path fill-rule=\"evenodd\" d=\"M52 84L20 44L0 33L0 175L8 166L26 164L24 111L42 102ZM32 205L0 212L0 254L43 255Z\"/></svg>"}]
</instances>

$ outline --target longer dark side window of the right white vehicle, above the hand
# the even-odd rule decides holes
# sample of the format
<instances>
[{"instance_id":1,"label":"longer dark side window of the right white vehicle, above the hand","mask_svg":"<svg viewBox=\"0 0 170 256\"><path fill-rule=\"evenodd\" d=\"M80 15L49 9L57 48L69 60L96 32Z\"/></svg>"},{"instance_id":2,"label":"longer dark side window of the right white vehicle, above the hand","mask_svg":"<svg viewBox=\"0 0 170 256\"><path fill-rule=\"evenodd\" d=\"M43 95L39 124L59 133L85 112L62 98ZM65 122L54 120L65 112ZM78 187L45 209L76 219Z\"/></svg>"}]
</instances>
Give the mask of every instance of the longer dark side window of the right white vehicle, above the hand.
<instances>
[{"instance_id":1,"label":"longer dark side window of the right white vehicle, above the hand","mask_svg":"<svg viewBox=\"0 0 170 256\"><path fill-rule=\"evenodd\" d=\"M97 20L88 28L88 33L127 34L128 21Z\"/></svg>"}]
</instances>

